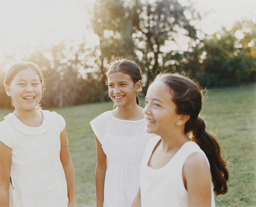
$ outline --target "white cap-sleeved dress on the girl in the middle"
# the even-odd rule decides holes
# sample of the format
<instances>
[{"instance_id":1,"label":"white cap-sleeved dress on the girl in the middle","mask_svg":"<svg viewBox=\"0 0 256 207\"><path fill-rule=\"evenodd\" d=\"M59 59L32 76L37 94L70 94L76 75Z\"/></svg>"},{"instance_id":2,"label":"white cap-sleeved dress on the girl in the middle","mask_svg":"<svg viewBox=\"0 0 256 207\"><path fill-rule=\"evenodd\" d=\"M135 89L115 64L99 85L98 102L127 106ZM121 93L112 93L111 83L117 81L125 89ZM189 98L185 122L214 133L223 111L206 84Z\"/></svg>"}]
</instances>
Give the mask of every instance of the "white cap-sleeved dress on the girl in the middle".
<instances>
[{"instance_id":1,"label":"white cap-sleeved dress on the girl in the middle","mask_svg":"<svg viewBox=\"0 0 256 207\"><path fill-rule=\"evenodd\" d=\"M104 184L105 207L130 207L139 189L139 172L146 143L145 119L122 120L106 111L91 127L108 159Z\"/></svg>"}]
</instances>

